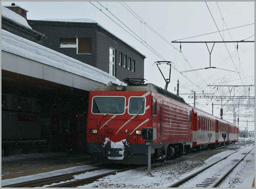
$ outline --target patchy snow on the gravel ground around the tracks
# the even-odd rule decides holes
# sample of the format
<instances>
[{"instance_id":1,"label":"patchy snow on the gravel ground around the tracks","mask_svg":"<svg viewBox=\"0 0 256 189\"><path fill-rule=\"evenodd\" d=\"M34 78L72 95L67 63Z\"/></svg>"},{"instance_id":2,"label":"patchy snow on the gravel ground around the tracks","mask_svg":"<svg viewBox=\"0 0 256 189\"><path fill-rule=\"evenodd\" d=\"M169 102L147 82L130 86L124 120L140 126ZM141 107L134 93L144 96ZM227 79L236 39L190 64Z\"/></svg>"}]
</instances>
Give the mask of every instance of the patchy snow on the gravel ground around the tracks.
<instances>
[{"instance_id":1,"label":"patchy snow on the gravel ground around the tracks","mask_svg":"<svg viewBox=\"0 0 256 189\"><path fill-rule=\"evenodd\" d=\"M238 143L239 144L239 143ZM240 143L241 144L241 143ZM235 145L236 146L236 145ZM214 161L220 159L221 157L225 157L234 152L234 150L240 148L238 147L226 147L225 151L223 148L223 152L218 153L211 158L205 160L204 162L196 162L196 161L186 161L186 158L193 157L197 155L197 153L189 154L183 157L180 157L176 160L169 160L165 162L158 162L152 164L151 166L151 174L154 177L147 176L148 167L140 167L137 169L116 173L115 175L109 175L98 181L93 183L78 186L80 188L92 188L92 187L108 187L108 188L145 188L145 187L153 187L153 188L165 188L174 182L177 182L179 179L188 176L189 172L196 172L201 167L205 167ZM252 148L252 147L251 147ZM182 169L180 166L182 164ZM226 178L226 183L220 185L220 187L235 187L235 188L251 188L253 178L255 176L255 149L253 149L248 157L246 157L237 167L232 174L228 178ZM25 182L28 180L34 180L44 177L51 177L57 174L65 174L68 172L74 172L83 170L85 168L91 168L90 166L77 166L73 168L67 168L57 171L51 171L47 173L40 173L36 175L30 175L25 177L19 177L15 179L7 179L2 180L2 186L7 184L13 184L17 182ZM223 166L223 165L222 165ZM220 167L219 169L222 169ZM102 170L102 173L104 171ZM81 179L91 177L94 174L100 173L96 171L95 173L87 172L84 174L76 175L74 179ZM194 180L193 182L197 182Z\"/></svg>"}]
</instances>

